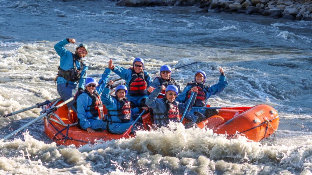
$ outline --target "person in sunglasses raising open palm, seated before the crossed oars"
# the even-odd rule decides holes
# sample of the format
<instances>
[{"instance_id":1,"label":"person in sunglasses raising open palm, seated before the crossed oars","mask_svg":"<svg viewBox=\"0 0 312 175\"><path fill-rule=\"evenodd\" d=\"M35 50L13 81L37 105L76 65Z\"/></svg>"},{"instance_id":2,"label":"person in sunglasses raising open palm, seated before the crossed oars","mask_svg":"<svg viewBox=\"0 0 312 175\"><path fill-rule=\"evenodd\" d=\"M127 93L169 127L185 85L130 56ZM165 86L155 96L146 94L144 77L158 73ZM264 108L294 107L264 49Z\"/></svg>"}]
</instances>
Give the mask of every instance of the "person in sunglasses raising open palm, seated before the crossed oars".
<instances>
[{"instance_id":1,"label":"person in sunglasses raising open palm, seated before the crossed oars","mask_svg":"<svg viewBox=\"0 0 312 175\"><path fill-rule=\"evenodd\" d=\"M145 90L151 85L153 79L150 74L144 70L143 59L134 59L133 66L129 69L114 66L113 60L111 59L108 63L108 68L126 81L125 85L128 88L126 97L131 102L131 108L144 107L145 99L148 97L148 95L145 94Z\"/></svg>"}]
</instances>

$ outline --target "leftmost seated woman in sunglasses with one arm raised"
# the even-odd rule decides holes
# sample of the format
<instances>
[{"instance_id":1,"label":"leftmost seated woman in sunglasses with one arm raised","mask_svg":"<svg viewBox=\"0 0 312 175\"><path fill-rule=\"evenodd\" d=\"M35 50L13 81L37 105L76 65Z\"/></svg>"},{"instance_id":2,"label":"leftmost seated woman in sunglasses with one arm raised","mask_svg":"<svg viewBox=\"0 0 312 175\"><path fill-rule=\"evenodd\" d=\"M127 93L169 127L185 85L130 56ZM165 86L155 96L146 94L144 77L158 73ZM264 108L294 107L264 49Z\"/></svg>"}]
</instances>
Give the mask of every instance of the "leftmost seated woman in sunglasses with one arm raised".
<instances>
[{"instance_id":1,"label":"leftmost seated woman in sunglasses with one arm raised","mask_svg":"<svg viewBox=\"0 0 312 175\"><path fill-rule=\"evenodd\" d=\"M106 130L107 123L100 94L105 88L110 69L105 69L99 83L94 78L86 78L85 89L76 93L78 126L93 133L95 130Z\"/></svg>"}]
</instances>

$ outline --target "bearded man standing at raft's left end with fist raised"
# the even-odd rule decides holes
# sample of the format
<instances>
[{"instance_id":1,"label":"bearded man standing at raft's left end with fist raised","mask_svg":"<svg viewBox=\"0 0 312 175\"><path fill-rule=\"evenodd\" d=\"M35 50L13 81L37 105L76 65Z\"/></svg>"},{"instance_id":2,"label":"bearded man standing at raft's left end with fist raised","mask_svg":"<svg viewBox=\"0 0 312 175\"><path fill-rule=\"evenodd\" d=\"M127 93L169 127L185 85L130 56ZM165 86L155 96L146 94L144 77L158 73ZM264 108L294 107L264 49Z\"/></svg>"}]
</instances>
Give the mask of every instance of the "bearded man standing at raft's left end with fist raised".
<instances>
[{"instance_id":1,"label":"bearded man standing at raft's left end with fist raised","mask_svg":"<svg viewBox=\"0 0 312 175\"><path fill-rule=\"evenodd\" d=\"M78 91L83 90L88 70L87 64L82 60L82 58L88 54L88 46L86 44L80 44L76 47L76 52L72 53L64 47L68 43L75 44L76 40L73 38L66 38L54 45L56 53L61 57L58 74L54 81L57 84L57 92L63 101L75 95L77 84ZM67 103L68 108L70 108L74 102L75 101L71 101ZM73 109L76 111L74 107Z\"/></svg>"}]
</instances>

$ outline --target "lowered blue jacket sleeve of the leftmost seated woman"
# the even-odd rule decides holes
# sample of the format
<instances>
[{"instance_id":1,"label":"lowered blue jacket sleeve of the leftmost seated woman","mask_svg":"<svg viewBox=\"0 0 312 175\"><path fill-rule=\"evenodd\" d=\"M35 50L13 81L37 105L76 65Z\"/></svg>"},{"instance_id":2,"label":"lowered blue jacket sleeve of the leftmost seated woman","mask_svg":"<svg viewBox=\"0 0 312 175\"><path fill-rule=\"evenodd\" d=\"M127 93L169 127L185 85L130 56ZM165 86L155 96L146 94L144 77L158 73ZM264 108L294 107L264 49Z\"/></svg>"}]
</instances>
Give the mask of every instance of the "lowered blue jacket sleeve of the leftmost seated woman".
<instances>
[{"instance_id":1,"label":"lowered blue jacket sleeve of the leftmost seated woman","mask_svg":"<svg viewBox=\"0 0 312 175\"><path fill-rule=\"evenodd\" d=\"M79 118L79 122L82 128L87 129L91 127L90 122L88 121L88 117L85 113L85 110L88 106L88 97L85 95L80 95L77 99L77 116Z\"/></svg>"}]
</instances>

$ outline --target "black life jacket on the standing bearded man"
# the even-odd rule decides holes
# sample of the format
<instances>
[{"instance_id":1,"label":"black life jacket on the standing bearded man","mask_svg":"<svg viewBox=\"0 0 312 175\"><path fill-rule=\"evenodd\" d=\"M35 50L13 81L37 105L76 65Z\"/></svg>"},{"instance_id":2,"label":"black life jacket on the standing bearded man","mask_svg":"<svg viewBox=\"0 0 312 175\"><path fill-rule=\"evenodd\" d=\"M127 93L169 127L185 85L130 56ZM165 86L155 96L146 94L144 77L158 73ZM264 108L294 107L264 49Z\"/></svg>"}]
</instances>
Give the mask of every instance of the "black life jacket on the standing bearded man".
<instances>
[{"instance_id":1,"label":"black life jacket on the standing bearded man","mask_svg":"<svg viewBox=\"0 0 312 175\"><path fill-rule=\"evenodd\" d=\"M72 69L69 69L69 70L63 70L61 69L61 67L59 66L57 68L58 72L57 72L57 75L59 77L63 77L64 79L67 80L66 82L66 87L68 85L68 81L71 81L71 82L79 82L79 79L81 77L81 71L83 69L83 60L81 59L80 60L80 69L77 69L76 67L76 60L79 61L78 58L76 58L76 54L73 54L73 63L74 63L74 68Z\"/></svg>"}]
</instances>

